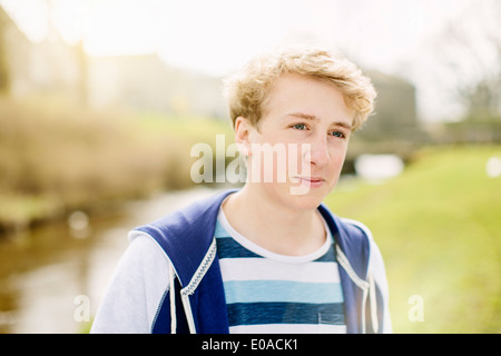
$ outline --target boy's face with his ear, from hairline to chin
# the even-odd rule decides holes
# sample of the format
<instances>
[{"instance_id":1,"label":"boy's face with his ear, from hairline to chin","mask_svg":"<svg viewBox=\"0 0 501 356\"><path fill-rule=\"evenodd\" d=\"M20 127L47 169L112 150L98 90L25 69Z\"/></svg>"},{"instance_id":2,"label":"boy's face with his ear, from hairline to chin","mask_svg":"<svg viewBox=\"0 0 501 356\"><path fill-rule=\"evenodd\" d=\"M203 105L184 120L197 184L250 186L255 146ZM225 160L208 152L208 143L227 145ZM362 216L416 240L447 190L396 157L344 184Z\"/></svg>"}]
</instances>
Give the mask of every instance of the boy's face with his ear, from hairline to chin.
<instances>
[{"instance_id":1,"label":"boy's face with his ear, from hairline to chin","mask_svg":"<svg viewBox=\"0 0 501 356\"><path fill-rule=\"evenodd\" d=\"M281 77L267 97L258 127L242 119L236 126L237 142L250 152L248 182L288 207L317 208L340 177L353 117L334 86L306 76ZM269 145L272 160L271 150L263 149ZM281 155L284 151L286 156ZM272 178L265 177L269 164Z\"/></svg>"}]
</instances>

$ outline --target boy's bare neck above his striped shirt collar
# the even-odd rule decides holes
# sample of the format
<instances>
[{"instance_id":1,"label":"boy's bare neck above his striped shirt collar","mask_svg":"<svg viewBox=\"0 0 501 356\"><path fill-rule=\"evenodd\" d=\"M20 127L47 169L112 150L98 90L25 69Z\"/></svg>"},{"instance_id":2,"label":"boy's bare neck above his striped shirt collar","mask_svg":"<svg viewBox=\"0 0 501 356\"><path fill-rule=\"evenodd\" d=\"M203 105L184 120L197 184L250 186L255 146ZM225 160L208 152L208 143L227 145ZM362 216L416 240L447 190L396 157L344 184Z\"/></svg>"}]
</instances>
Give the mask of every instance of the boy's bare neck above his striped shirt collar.
<instances>
[{"instance_id":1,"label":"boy's bare neck above his striped shirt collar","mask_svg":"<svg viewBox=\"0 0 501 356\"><path fill-rule=\"evenodd\" d=\"M246 185L223 206L228 222L261 247L281 255L302 256L325 243L325 229L316 209L287 207Z\"/></svg>"}]
</instances>

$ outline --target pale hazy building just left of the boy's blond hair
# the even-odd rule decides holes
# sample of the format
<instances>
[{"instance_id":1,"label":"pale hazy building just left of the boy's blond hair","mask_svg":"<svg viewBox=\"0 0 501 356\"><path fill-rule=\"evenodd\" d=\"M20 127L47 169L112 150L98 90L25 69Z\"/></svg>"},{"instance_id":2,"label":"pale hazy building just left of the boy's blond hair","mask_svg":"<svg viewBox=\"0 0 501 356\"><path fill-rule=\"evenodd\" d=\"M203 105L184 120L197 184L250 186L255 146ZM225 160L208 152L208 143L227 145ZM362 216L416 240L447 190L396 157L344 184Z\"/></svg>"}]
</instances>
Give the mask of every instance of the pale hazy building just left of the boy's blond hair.
<instances>
[{"instance_id":1,"label":"pale hazy building just left of the boy's blond hair","mask_svg":"<svg viewBox=\"0 0 501 356\"><path fill-rule=\"evenodd\" d=\"M157 55L90 57L88 69L94 107L226 117L220 78L169 67Z\"/></svg>"}]
</instances>

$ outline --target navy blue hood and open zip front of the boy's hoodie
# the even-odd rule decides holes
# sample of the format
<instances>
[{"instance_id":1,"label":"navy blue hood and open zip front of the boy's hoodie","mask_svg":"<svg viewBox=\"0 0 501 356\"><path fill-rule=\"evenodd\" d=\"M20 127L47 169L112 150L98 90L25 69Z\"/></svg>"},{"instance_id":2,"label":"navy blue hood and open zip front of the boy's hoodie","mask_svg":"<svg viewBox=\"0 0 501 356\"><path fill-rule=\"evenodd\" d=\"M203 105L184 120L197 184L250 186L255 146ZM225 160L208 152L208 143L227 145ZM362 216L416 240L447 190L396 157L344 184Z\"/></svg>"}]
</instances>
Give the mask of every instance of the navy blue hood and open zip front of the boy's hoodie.
<instances>
[{"instance_id":1,"label":"navy blue hood and open zip front of the boy's hoodie","mask_svg":"<svg viewBox=\"0 0 501 356\"><path fill-rule=\"evenodd\" d=\"M168 258L169 281L150 322L151 333L228 333L214 231L220 205L234 191L200 199L131 231L131 239L153 237ZM391 333L386 276L371 233L357 221L336 217L324 205L318 210L336 243L347 333ZM112 332L105 325L112 324L107 315L116 313L107 308L101 305L91 332Z\"/></svg>"}]
</instances>

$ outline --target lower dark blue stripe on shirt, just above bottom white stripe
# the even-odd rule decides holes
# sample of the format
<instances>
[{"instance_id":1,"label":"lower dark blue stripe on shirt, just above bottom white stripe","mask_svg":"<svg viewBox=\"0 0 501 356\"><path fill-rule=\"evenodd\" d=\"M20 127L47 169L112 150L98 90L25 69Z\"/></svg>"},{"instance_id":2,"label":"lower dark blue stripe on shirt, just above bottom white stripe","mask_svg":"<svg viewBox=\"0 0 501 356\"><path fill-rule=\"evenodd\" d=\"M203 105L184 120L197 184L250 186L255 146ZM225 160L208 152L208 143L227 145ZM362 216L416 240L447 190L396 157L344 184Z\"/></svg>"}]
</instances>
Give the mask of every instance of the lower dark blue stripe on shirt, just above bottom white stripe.
<instances>
[{"instance_id":1,"label":"lower dark blue stripe on shirt, just above bottom white stripe","mask_svg":"<svg viewBox=\"0 0 501 356\"><path fill-rule=\"evenodd\" d=\"M229 326L262 324L344 325L343 304L237 303L228 304Z\"/></svg>"}]
</instances>

